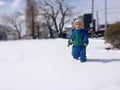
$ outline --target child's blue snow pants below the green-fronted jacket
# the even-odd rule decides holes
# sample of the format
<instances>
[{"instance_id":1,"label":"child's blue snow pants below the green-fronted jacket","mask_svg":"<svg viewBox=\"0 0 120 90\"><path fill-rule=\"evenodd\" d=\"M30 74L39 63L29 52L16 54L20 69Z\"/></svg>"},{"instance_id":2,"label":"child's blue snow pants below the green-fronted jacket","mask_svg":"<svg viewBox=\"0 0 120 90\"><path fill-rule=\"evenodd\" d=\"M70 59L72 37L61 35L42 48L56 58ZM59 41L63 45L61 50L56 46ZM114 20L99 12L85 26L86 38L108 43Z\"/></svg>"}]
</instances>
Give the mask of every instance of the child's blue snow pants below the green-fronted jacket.
<instances>
[{"instance_id":1,"label":"child's blue snow pants below the green-fronted jacket","mask_svg":"<svg viewBox=\"0 0 120 90\"><path fill-rule=\"evenodd\" d=\"M85 46L72 46L72 56L79 59L81 62L86 61L86 47Z\"/></svg>"}]
</instances>

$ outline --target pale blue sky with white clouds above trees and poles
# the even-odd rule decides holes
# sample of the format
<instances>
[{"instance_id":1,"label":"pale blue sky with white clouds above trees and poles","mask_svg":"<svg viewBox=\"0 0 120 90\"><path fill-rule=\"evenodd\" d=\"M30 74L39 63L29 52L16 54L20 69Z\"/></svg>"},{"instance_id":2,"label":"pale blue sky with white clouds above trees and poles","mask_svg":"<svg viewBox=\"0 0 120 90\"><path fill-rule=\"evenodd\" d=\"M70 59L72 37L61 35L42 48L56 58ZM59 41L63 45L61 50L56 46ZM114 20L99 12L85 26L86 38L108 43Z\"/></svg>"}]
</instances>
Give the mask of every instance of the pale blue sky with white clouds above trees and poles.
<instances>
[{"instance_id":1,"label":"pale blue sky with white clouds above trees and poles","mask_svg":"<svg viewBox=\"0 0 120 90\"><path fill-rule=\"evenodd\" d=\"M92 0L67 0L67 4L76 7L80 15L91 12ZM99 22L104 23L104 2L105 0L94 0L94 18L96 18L96 11L99 12ZM23 10L25 0L0 0L0 15L3 13L10 13L13 10ZM107 0L108 22L120 21L120 0Z\"/></svg>"}]
</instances>

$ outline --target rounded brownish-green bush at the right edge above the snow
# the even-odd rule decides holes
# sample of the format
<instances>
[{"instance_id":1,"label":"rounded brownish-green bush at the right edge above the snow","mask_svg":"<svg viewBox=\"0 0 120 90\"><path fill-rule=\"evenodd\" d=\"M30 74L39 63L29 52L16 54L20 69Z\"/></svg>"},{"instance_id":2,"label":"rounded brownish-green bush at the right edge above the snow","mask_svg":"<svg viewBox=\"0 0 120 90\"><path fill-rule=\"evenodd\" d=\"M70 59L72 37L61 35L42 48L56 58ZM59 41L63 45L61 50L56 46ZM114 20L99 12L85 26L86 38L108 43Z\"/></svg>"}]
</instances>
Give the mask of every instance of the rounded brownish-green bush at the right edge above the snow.
<instances>
[{"instance_id":1,"label":"rounded brownish-green bush at the right edge above the snow","mask_svg":"<svg viewBox=\"0 0 120 90\"><path fill-rule=\"evenodd\" d=\"M120 22L112 24L104 33L106 43L120 49Z\"/></svg>"}]
</instances>

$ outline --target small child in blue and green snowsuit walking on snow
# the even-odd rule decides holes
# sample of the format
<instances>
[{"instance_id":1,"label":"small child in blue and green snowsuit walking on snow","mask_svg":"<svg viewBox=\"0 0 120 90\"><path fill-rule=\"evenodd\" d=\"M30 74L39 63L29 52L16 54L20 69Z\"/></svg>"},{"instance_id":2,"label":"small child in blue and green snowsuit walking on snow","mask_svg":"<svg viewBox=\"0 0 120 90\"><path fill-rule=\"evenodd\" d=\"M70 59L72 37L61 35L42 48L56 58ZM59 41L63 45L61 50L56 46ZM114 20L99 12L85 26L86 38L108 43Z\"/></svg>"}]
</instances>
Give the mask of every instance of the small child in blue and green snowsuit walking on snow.
<instances>
[{"instance_id":1,"label":"small child in blue and green snowsuit walking on snow","mask_svg":"<svg viewBox=\"0 0 120 90\"><path fill-rule=\"evenodd\" d=\"M74 21L74 28L72 34L68 39L68 47L69 45L73 44L72 46L72 56L74 59L79 59L81 62L86 61L86 46L88 45L88 37L87 32L82 29L82 22L80 19L76 19Z\"/></svg>"}]
</instances>

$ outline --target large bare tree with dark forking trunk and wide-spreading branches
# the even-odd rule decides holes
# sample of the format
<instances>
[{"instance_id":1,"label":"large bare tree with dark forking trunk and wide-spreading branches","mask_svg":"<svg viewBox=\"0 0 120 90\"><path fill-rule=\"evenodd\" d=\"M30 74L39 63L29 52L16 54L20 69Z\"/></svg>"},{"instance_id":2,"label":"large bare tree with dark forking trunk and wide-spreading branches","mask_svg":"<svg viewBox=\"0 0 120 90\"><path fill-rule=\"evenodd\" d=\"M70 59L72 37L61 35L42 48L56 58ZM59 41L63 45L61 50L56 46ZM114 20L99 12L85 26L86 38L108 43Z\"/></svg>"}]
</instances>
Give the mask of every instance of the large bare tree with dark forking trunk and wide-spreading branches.
<instances>
[{"instance_id":1,"label":"large bare tree with dark forking trunk and wide-spreading branches","mask_svg":"<svg viewBox=\"0 0 120 90\"><path fill-rule=\"evenodd\" d=\"M60 37L62 37L64 25L73 14L73 7L66 5L65 1L66 0L44 0L40 2L39 6L42 12L52 19L54 28Z\"/></svg>"}]
</instances>

